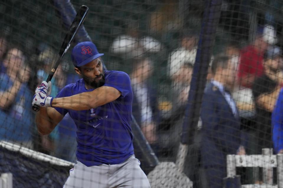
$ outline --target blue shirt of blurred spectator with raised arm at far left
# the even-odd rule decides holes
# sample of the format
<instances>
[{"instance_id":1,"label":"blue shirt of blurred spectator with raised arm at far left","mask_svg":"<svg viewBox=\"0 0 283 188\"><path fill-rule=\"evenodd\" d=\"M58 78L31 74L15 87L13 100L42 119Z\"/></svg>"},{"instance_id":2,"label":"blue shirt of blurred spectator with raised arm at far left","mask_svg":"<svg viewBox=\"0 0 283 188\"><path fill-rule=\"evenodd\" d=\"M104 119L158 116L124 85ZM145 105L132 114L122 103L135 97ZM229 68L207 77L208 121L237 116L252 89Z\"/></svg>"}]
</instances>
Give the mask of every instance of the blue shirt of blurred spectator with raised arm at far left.
<instances>
[{"instance_id":1,"label":"blue shirt of blurred spectator with raised arm at far left","mask_svg":"<svg viewBox=\"0 0 283 188\"><path fill-rule=\"evenodd\" d=\"M6 91L13 82L5 73L0 74L0 91ZM32 92L22 84L13 104L8 109L0 108L0 139L18 142L31 141L34 117L31 111Z\"/></svg>"}]
</instances>

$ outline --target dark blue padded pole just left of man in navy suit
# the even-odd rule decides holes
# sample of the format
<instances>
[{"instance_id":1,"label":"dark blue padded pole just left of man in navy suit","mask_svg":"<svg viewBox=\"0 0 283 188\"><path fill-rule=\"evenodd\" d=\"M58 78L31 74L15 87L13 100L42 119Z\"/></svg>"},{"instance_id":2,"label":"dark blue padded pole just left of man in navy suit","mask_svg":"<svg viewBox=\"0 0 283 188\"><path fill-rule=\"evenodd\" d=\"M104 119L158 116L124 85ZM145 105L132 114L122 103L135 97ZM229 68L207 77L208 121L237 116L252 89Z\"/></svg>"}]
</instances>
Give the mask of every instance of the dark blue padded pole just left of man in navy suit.
<instances>
[{"instance_id":1,"label":"dark blue padded pole just left of man in navy suit","mask_svg":"<svg viewBox=\"0 0 283 188\"><path fill-rule=\"evenodd\" d=\"M215 33L219 23L222 0L206 0L197 47L188 105L185 111L182 144L192 144L199 121L202 96L207 83L207 71L211 61Z\"/></svg>"}]
</instances>

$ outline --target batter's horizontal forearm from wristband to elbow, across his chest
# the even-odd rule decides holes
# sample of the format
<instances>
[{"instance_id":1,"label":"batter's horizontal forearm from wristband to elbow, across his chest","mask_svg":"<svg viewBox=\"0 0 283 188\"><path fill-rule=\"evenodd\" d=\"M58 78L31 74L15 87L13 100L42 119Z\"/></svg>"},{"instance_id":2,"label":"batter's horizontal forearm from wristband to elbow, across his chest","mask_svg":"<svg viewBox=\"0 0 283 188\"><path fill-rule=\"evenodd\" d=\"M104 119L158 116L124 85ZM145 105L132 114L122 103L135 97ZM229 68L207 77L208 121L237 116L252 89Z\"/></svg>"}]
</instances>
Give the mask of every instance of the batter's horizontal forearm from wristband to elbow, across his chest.
<instances>
[{"instance_id":1,"label":"batter's horizontal forearm from wristband to elbow, across his chest","mask_svg":"<svg viewBox=\"0 0 283 188\"><path fill-rule=\"evenodd\" d=\"M73 95L71 97L54 98L52 101L52 107L59 107L71 110L88 110L96 108L95 96L91 95L91 92L84 92Z\"/></svg>"}]
</instances>

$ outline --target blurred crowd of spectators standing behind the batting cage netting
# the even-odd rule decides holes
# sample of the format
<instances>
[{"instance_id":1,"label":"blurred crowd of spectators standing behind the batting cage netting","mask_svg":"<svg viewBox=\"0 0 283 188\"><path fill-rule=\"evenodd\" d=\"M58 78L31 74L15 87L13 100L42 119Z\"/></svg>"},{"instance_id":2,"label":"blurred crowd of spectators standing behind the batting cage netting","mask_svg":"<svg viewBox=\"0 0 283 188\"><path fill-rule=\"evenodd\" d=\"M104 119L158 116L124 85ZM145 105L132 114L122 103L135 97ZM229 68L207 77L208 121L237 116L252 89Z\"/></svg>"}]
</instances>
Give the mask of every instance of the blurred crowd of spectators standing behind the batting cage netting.
<instances>
[{"instance_id":1,"label":"blurred crowd of spectators standing behind the batting cage netting","mask_svg":"<svg viewBox=\"0 0 283 188\"><path fill-rule=\"evenodd\" d=\"M164 14L158 16L158 11L151 15L154 33L181 27L179 17L170 16L170 6L164 9L169 12L165 18ZM131 59L127 73L134 94L133 116L159 159L175 161L199 32L182 32L176 49L166 56L164 74L169 89L167 96L160 96L158 84L151 78L156 70L164 69L155 66L151 55L161 53L166 45L150 34L141 34L138 22L131 22L128 27L128 32L116 36L109 52L104 53L125 61ZM208 184L213 185L210 187L221 187L226 176L227 154L261 154L263 148L283 153L283 56L276 39L273 26L260 26L250 44L226 44L207 62L207 86L196 135L200 140L198 167L204 169ZM25 49L11 44L4 34L0 36L0 139L74 162L73 120L67 114L50 135L41 136L31 109L34 90L47 79L55 61L55 50L41 43L27 58ZM62 62L52 79L51 95L55 97L65 85L77 79L80 77L70 62ZM187 173L191 178L191 172ZM258 175L256 181L261 180Z\"/></svg>"}]
</instances>

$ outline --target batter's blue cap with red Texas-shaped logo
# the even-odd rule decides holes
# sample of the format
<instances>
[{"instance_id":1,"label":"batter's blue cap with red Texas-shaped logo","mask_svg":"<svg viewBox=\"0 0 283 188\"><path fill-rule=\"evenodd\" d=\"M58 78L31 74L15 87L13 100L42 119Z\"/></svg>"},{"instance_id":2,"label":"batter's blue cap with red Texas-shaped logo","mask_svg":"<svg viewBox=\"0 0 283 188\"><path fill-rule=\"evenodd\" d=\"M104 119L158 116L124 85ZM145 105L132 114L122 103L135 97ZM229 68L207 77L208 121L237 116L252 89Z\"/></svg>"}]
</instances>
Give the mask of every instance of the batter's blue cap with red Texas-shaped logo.
<instances>
[{"instance_id":1,"label":"batter's blue cap with red Texas-shaped logo","mask_svg":"<svg viewBox=\"0 0 283 188\"><path fill-rule=\"evenodd\" d=\"M80 42L72 50L72 61L74 66L83 66L90 61L103 56L99 54L95 44L92 42Z\"/></svg>"}]
</instances>

